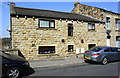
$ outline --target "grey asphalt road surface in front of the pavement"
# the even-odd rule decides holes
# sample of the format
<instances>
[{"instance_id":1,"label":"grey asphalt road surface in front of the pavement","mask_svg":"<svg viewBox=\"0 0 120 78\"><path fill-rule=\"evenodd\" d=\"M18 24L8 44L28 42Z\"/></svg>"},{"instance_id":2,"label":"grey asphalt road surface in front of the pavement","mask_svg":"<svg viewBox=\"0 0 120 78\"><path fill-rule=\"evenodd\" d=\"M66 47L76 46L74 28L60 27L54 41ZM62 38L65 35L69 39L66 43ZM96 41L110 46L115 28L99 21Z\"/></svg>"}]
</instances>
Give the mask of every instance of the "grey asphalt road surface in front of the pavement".
<instances>
[{"instance_id":1,"label":"grey asphalt road surface in front of the pavement","mask_svg":"<svg viewBox=\"0 0 120 78\"><path fill-rule=\"evenodd\" d=\"M119 62L112 62L107 65L96 63L73 64L67 66L56 66L36 68L32 76L118 76Z\"/></svg>"}]
</instances>

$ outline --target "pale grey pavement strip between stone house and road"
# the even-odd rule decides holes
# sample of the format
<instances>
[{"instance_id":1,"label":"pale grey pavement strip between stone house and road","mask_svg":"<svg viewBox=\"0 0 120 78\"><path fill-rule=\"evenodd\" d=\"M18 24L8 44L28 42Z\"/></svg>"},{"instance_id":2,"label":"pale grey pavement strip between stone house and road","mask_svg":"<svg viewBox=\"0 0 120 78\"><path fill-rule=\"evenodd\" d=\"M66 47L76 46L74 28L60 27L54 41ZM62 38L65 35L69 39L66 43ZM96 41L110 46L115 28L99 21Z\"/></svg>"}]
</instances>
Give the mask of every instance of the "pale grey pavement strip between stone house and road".
<instances>
[{"instance_id":1,"label":"pale grey pavement strip between stone house and road","mask_svg":"<svg viewBox=\"0 0 120 78\"><path fill-rule=\"evenodd\" d=\"M64 59L48 59L48 60L32 60L29 61L30 67L40 68L40 67L50 67L50 66L61 66L68 64L84 63L84 58L80 57L69 57Z\"/></svg>"}]
</instances>

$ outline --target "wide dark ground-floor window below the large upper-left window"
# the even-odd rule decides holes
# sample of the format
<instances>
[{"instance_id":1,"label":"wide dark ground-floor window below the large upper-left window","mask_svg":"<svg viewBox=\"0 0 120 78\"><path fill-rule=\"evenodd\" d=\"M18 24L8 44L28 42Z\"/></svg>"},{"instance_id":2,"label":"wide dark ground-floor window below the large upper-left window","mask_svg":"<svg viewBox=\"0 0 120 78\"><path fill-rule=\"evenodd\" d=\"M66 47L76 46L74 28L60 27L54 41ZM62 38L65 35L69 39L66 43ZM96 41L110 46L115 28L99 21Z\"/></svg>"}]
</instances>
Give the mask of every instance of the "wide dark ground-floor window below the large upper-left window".
<instances>
[{"instance_id":1,"label":"wide dark ground-floor window below the large upper-left window","mask_svg":"<svg viewBox=\"0 0 120 78\"><path fill-rule=\"evenodd\" d=\"M39 46L39 54L55 53L55 46Z\"/></svg>"}]
</instances>

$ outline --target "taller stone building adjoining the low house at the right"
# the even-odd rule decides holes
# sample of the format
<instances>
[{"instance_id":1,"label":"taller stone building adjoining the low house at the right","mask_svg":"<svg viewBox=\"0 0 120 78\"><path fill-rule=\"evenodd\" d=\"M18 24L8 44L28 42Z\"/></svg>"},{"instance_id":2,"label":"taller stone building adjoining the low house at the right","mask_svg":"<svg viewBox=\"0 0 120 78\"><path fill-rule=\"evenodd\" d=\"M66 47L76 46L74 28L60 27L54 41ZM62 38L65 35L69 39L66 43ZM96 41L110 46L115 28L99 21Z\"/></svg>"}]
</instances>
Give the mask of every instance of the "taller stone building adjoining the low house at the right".
<instances>
[{"instance_id":1,"label":"taller stone building adjoining the low house at the right","mask_svg":"<svg viewBox=\"0 0 120 78\"><path fill-rule=\"evenodd\" d=\"M72 13L91 16L105 22L106 45L120 47L120 14L76 2Z\"/></svg>"}]
</instances>

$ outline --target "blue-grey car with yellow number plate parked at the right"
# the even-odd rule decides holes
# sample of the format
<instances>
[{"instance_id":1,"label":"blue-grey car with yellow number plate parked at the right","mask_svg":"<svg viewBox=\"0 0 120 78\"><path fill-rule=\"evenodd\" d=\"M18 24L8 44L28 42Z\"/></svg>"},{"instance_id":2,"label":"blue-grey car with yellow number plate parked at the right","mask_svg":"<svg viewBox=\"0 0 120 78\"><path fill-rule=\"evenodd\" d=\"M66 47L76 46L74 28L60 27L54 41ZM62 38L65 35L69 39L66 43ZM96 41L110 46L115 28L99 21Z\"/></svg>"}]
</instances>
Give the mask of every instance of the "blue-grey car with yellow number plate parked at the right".
<instances>
[{"instance_id":1,"label":"blue-grey car with yellow number plate parked at the right","mask_svg":"<svg viewBox=\"0 0 120 78\"><path fill-rule=\"evenodd\" d=\"M96 46L84 53L85 61L95 61L107 64L110 61L120 60L120 48Z\"/></svg>"}]
</instances>

